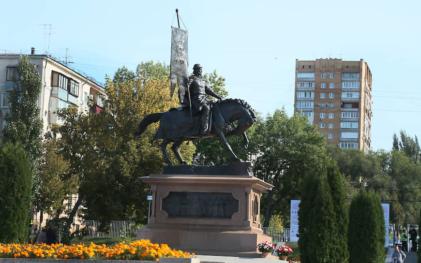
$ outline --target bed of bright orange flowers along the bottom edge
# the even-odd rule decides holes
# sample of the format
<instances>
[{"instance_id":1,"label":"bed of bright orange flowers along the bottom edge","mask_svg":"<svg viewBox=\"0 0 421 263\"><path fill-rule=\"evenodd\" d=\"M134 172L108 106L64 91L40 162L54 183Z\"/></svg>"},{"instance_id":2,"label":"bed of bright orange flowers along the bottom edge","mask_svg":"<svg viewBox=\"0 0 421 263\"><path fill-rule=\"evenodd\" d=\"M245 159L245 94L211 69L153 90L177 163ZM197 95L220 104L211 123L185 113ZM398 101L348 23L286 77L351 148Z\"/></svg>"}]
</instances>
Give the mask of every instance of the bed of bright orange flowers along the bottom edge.
<instances>
[{"instance_id":1,"label":"bed of bright orange flowers along the bottom edge","mask_svg":"<svg viewBox=\"0 0 421 263\"><path fill-rule=\"evenodd\" d=\"M159 261L159 258L190 258L194 254L173 250L165 244L152 244L149 240L136 240L113 247L90 243L78 245L46 244L0 244L0 258L36 259L97 259L97 260L145 260Z\"/></svg>"}]
</instances>

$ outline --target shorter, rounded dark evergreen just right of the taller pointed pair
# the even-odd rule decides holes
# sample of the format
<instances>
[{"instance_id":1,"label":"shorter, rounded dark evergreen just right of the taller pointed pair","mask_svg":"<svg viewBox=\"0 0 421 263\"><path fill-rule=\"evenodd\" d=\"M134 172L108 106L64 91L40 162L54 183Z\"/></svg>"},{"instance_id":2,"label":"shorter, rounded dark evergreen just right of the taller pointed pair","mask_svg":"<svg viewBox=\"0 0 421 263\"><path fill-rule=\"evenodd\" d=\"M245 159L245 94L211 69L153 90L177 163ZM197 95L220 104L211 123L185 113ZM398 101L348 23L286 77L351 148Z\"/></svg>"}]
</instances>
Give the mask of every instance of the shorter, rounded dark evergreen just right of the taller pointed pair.
<instances>
[{"instance_id":1,"label":"shorter, rounded dark evergreen just right of the taller pointed pair","mask_svg":"<svg viewBox=\"0 0 421 263\"><path fill-rule=\"evenodd\" d=\"M361 188L349 206L349 263L384 262L383 208L379 196Z\"/></svg>"}]
</instances>

